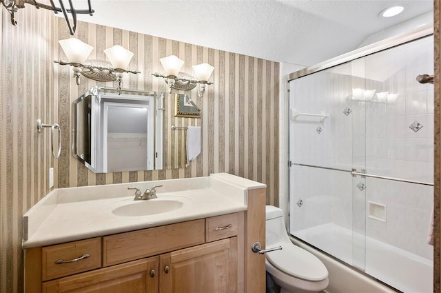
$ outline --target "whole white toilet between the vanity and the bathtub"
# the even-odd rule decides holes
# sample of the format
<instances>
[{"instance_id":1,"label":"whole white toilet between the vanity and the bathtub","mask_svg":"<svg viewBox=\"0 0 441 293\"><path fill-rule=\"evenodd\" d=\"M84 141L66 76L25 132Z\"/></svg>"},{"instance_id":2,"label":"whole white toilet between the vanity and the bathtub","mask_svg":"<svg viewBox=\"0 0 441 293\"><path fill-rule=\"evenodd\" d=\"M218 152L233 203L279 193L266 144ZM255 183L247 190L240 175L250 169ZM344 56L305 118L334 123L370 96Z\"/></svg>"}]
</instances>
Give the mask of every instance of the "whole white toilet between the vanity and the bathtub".
<instances>
[{"instance_id":1,"label":"whole white toilet between the vanity and the bathtub","mask_svg":"<svg viewBox=\"0 0 441 293\"><path fill-rule=\"evenodd\" d=\"M282 250L267 252L266 269L280 293L312 293L324 290L329 284L328 270L313 254L289 240L283 212L272 205L266 207L266 247L282 246Z\"/></svg>"}]
</instances>

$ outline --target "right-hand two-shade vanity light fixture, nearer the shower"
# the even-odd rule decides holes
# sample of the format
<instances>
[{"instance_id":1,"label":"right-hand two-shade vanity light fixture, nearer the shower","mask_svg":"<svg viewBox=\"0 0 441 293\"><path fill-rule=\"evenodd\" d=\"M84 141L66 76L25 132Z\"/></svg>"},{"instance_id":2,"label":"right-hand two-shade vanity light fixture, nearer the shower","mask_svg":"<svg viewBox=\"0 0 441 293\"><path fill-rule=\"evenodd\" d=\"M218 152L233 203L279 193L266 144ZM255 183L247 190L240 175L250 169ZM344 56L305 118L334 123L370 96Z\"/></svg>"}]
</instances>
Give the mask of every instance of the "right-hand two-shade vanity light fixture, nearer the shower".
<instances>
[{"instance_id":1,"label":"right-hand two-shade vanity light fixture, nearer the shower","mask_svg":"<svg viewBox=\"0 0 441 293\"><path fill-rule=\"evenodd\" d=\"M193 65L192 67L196 74L196 77L193 77L191 74L180 71L184 61L175 55L161 58L159 61L163 65L165 74L155 72L152 75L164 79L168 85L169 93L172 93L172 88L176 88L176 90L192 90L198 85L198 95L203 97L206 85L213 84L208 79L211 77L214 67L208 63Z\"/></svg>"}]
</instances>

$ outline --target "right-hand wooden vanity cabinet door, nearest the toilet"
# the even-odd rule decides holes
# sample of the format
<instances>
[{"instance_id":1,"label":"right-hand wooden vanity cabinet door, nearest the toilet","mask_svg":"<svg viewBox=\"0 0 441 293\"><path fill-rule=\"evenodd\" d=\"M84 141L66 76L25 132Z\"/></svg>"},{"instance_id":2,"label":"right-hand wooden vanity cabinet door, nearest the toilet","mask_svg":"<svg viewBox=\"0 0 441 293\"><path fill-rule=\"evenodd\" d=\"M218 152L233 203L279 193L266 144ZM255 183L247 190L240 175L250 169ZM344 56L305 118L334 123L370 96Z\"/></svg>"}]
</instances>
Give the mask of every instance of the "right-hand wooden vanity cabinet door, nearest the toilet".
<instances>
[{"instance_id":1,"label":"right-hand wooden vanity cabinet door, nearest the toilet","mask_svg":"<svg viewBox=\"0 0 441 293\"><path fill-rule=\"evenodd\" d=\"M162 254L159 292L237 292L237 250L237 237L232 237Z\"/></svg>"}]
</instances>

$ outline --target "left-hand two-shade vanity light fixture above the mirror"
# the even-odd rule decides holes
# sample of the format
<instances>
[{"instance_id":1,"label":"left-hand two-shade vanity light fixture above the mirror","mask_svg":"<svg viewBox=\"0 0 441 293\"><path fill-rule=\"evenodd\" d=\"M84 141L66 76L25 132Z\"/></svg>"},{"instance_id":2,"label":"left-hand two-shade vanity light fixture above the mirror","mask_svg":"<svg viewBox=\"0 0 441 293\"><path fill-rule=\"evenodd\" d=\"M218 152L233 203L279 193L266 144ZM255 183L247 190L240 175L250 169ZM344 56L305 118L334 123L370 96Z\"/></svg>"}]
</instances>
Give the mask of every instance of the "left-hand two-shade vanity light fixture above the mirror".
<instances>
[{"instance_id":1,"label":"left-hand two-shade vanity light fixture above the mirror","mask_svg":"<svg viewBox=\"0 0 441 293\"><path fill-rule=\"evenodd\" d=\"M121 94L123 73L141 73L136 70L127 69L133 53L119 45L104 50L107 59L110 61L108 62L103 60L86 60L94 48L79 39L70 38L60 40L59 43L68 58L68 62L61 60L54 62L60 65L72 66L77 85L80 84L80 74L94 81L117 81L118 94Z\"/></svg>"}]
</instances>

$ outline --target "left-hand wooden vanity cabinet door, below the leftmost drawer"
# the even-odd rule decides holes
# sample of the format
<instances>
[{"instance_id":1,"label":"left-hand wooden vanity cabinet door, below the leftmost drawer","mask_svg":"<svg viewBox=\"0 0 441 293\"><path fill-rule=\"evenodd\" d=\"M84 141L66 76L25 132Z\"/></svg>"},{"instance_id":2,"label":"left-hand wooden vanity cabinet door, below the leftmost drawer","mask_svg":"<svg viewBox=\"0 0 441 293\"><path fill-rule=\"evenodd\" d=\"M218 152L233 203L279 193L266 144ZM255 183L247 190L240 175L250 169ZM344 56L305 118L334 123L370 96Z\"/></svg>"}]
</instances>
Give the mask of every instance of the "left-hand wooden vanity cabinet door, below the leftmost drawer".
<instances>
[{"instance_id":1,"label":"left-hand wooden vanity cabinet door, below the leftmost drawer","mask_svg":"<svg viewBox=\"0 0 441 293\"><path fill-rule=\"evenodd\" d=\"M43 283L43 293L157 293L158 256Z\"/></svg>"}]
</instances>

